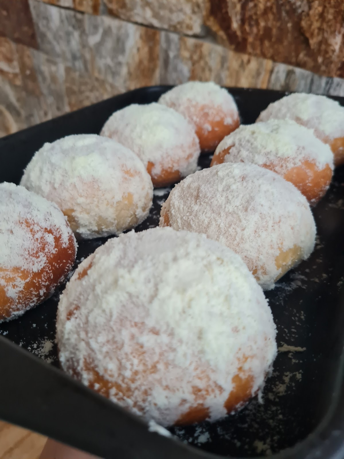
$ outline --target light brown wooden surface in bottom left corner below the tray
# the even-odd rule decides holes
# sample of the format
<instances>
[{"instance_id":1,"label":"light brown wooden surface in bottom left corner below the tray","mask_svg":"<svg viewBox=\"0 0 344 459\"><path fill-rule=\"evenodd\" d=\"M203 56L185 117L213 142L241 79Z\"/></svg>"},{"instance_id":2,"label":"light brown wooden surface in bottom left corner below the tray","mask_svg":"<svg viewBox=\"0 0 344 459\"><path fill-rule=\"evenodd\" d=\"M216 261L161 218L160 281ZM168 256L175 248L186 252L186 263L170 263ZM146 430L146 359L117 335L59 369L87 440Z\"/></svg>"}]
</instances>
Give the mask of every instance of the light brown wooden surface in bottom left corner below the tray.
<instances>
[{"instance_id":1,"label":"light brown wooden surface in bottom left corner below the tray","mask_svg":"<svg viewBox=\"0 0 344 459\"><path fill-rule=\"evenodd\" d=\"M0 459L38 459L46 438L0 421Z\"/></svg>"}]
</instances>

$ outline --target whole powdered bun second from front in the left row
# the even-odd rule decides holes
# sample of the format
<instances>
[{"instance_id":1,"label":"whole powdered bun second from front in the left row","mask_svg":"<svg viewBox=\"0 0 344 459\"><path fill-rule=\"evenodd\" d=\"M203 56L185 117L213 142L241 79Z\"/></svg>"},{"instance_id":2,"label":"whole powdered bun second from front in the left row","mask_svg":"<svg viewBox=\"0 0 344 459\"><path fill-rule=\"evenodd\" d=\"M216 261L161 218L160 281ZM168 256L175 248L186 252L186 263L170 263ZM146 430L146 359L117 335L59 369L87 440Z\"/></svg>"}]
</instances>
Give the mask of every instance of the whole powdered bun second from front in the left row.
<instances>
[{"instance_id":1,"label":"whole powdered bun second from front in the left row","mask_svg":"<svg viewBox=\"0 0 344 459\"><path fill-rule=\"evenodd\" d=\"M69 135L35 153L21 185L55 202L78 238L120 234L143 222L153 185L128 148L95 134Z\"/></svg>"}]
</instances>

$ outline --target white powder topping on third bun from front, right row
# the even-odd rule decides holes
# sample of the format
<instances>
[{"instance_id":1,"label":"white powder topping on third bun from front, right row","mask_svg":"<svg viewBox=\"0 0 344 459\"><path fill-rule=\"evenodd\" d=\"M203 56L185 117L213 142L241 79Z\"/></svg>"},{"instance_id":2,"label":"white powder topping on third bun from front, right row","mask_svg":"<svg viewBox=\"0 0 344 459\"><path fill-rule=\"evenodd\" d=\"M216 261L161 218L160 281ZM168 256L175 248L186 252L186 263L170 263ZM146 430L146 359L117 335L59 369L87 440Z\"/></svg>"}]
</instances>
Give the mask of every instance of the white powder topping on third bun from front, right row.
<instances>
[{"instance_id":1,"label":"white powder topping on third bun from front, right row","mask_svg":"<svg viewBox=\"0 0 344 459\"><path fill-rule=\"evenodd\" d=\"M222 140L215 155L228 148L224 162L273 165L280 175L305 161L315 164L318 170L327 164L333 169L330 147L317 139L313 130L289 119L242 125Z\"/></svg>"}]
</instances>

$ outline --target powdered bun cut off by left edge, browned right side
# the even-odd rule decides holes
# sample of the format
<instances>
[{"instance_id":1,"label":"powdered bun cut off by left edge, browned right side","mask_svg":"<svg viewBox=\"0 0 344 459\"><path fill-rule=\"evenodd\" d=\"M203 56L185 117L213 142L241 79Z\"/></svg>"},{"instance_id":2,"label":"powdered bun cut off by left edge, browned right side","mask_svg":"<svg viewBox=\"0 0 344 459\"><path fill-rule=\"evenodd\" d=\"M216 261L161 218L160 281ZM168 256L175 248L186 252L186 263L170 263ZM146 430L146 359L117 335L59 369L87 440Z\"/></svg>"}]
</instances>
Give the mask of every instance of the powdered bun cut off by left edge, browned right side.
<instances>
[{"instance_id":1,"label":"powdered bun cut off by left edge, browned right side","mask_svg":"<svg viewBox=\"0 0 344 459\"><path fill-rule=\"evenodd\" d=\"M75 261L77 243L53 203L0 184L0 322L50 297Z\"/></svg>"}]
</instances>

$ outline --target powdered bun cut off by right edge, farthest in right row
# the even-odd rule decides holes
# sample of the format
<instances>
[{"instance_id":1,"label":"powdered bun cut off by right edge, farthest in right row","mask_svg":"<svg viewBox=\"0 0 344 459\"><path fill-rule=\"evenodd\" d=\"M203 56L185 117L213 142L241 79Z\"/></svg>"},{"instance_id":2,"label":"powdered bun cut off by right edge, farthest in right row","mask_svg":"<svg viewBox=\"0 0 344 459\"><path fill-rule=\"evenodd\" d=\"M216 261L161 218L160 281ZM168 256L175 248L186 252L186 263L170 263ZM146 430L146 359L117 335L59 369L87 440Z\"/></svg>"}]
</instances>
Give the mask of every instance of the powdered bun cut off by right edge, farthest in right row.
<instances>
[{"instance_id":1,"label":"powdered bun cut off by right edge, farthest in right row","mask_svg":"<svg viewBox=\"0 0 344 459\"><path fill-rule=\"evenodd\" d=\"M314 129L316 137L327 143L334 155L334 165L344 163L344 107L324 95L296 93L272 102L257 121L293 119Z\"/></svg>"}]
</instances>

